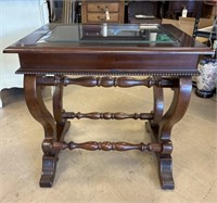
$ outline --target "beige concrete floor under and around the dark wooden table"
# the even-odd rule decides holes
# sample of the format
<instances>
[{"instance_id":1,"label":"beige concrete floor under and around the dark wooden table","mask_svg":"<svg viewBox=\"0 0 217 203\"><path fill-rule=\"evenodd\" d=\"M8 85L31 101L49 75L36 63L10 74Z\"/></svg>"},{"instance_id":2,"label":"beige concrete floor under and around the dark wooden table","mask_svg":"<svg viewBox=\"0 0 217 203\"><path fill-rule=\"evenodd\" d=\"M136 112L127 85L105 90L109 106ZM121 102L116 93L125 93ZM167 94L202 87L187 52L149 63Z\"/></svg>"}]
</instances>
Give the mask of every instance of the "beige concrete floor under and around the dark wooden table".
<instances>
[{"instance_id":1,"label":"beige concrete floor under and around the dark wooden table","mask_svg":"<svg viewBox=\"0 0 217 203\"><path fill-rule=\"evenodd\" d=\"M183 119L173 129L176 188L159 187L152 153L61 152L54 186L39 188L42 127L30 116L22 89L2 91L0 109L1 203L216 203L217 103L216 98L192 99ZM165 92L170 101L171 91ZM44 90L50 109L50 89ZM166 106L168 105L166 102ZM64 106L75 112L141 113L152 110L152 89L65 88ZM142 120L72 120L67 141L149 142Z\"/></svg>"}]
</instances>

